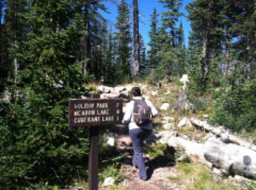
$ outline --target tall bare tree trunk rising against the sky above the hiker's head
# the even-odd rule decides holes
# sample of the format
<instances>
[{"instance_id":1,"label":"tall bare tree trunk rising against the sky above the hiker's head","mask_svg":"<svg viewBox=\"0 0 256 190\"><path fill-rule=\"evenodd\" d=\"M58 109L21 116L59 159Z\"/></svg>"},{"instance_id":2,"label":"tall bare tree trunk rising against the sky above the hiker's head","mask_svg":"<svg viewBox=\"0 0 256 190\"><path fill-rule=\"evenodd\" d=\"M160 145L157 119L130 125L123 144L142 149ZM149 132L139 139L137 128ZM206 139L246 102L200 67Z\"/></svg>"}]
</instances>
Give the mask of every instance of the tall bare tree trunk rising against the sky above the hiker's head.
<instances>
[{"instance_id":1,"label":"tall bare tree trunk rising against the sky above the hiker's head","mask_svg":"<svg viewBox=\"0 0 256 190\"><path fill-rule=\"evenodd\" d=\"M134 36L133 75L136 76L139 72L139 65L140 65L138 0L133 0L133 24L134 24L133 26L133 36Z\"/></svg>"}]
</instances>

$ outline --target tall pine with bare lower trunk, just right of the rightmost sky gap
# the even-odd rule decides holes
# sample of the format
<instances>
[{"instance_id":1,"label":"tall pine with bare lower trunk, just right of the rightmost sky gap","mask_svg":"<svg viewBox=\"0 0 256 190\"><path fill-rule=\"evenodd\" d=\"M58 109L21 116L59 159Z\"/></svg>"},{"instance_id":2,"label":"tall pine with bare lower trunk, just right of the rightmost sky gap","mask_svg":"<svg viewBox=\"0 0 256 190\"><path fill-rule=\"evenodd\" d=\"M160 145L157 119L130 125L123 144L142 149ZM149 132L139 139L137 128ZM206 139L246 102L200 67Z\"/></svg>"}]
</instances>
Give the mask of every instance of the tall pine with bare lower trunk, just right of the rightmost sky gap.
<instances>
[{"instance_id":1,"label":"tall pine with bare lower trunk, just right of the rightmost sky gap","mask_svg":"<svg viewBox=\"0 0 256 190\"><path fill-rule=\"evenodd\" d=\"M220 0L222 1L222 0ZM197 0L187 6L188 19L191 20L195 45L201 48L200 62L200 83L206 88L210 64L216 56L222 53L220 38L221 33L221 4L220 1Z\"/></svg>"}]
</instances>

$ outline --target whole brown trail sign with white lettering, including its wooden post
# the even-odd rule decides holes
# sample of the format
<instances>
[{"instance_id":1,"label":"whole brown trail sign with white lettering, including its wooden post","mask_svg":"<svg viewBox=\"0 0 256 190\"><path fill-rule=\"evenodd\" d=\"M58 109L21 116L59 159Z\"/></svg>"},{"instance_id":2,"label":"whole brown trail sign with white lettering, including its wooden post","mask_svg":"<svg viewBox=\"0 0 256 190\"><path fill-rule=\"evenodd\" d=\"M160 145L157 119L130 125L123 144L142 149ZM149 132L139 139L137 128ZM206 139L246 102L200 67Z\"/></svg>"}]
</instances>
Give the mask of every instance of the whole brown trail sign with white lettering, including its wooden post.
<instances>
[{"instance_id":1,"label":"whole brown trail sign with white lettering, including its wooden post","mask_svg":"<svg viewBox=\"0 0 256 190\"><path fill-rule=\"evenodd\" d=\"M120 124L122 107L122 99L99 99L99 94L69 100L69 126L90 127L89 190L98 190L99 127Z\"/></svg>"}]
</instances>

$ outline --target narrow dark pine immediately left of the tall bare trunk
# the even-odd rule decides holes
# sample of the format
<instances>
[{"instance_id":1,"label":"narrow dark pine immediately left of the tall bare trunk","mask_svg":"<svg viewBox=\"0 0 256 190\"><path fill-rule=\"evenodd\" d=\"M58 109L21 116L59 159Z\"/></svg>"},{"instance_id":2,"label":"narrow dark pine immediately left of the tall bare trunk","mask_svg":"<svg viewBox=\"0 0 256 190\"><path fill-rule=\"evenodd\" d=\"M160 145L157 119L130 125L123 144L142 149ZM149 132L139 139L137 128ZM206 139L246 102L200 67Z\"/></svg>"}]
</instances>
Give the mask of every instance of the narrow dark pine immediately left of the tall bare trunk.
<instances>
[{"instance_id":1,"label":"narrow dark pine immediately left of the tall bare trunk","mask_svg":"<svg viewBox=\"0 0 256 190\"><path fill-rule=\"evenodd\" d=\"M115 25L118 32L116 33L118 52L116 63L116 77L117 82L131 79L131 19L130 10L125 0L122 0L118 5L117 23Z\"/></svg>"}]
</instances>

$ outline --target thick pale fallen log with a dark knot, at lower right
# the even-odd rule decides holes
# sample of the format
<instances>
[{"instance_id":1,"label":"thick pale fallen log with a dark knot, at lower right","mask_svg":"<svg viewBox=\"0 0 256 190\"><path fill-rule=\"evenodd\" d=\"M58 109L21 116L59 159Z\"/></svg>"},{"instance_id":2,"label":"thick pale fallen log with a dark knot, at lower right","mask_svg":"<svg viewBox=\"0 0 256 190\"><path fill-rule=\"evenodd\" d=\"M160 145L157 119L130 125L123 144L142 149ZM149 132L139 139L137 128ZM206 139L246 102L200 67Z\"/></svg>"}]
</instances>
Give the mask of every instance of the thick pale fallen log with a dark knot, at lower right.
<instances>
[{"instance_id":1,"label":"thick pale fallen log with a dark knot, at lower right","mask_svg":"<svg viewBox=\"0 0 256 190\"><path fill-rule=\"evenodd\" d=\"M240 175L256 179L256 152L236 144L226 144L220 139L210 138L205 144L172 137L168 146L184 149L191 161L208 168L220 169L225 175Z\"/></svg>"}]
</instances>

